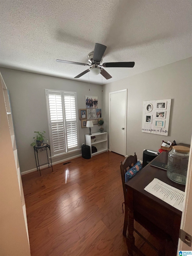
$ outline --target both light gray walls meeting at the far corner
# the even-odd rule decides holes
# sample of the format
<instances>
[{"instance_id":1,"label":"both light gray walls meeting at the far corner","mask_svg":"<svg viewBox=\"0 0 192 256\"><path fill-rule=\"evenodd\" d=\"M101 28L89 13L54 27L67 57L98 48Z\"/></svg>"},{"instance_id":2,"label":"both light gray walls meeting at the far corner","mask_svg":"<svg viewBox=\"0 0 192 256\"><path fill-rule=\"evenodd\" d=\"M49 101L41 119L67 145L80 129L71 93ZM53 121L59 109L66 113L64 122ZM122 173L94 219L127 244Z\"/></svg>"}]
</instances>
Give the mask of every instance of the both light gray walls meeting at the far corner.
<instances>
[{"instance_id":1,"label":"both light gray walls meeting at the far corner","mask_svg":"<svg viewBox=\"0 0 192 256\"><path fill-rule=\"evenodd\" d=\"M137 153L142 158L143 149L156 150L162 140L176 140L177 143L190 143L192 127L192 58L184 59L160 68L156 68L132 77L128 77L103 86L0 68L5 84L10 92L13 122L19 155L21 172L35 168L32 146L34 131L46 131L48 122L44 89L77 92L77 107L85 108L85 95L96 95L100 101L105 131L109 132L109 92L128 89L127 112L127 155ZM148 134L141 131L143 101L172 99L169 135ZM103 105L102 105L103 102ZM99 106L99 107L100 107ZM80 121L80 120L79 120ZM98 125L91 128L98 131ZM88 128L81 128L79 122L79 143L85 143ZM43 153L43 152L42 152ZM65 157L55 158L60 161ZM42 158L44 161L44 157ZM43 162L42 162L43 163Z\"/></svg>"}]
</instances>

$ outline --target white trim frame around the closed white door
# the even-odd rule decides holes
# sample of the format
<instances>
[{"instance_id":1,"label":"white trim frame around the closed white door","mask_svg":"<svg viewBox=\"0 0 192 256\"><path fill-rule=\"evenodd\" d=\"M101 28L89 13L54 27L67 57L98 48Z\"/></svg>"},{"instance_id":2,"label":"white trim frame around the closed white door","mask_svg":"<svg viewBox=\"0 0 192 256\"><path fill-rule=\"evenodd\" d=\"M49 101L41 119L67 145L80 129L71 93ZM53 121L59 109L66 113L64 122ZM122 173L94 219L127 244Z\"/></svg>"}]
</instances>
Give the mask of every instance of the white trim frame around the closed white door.
<instances>
[{"instance_id":1,"label":"white trim frame around the closed white door","mask_svg":"<svg viewBox=\"0 0 192 256\"><path fill-rule=\"evenodd\" d=\"M127 149L127 89L122 89L115 92L109 92L109 151L111 151L111 94L125 92L125 149L124 156L126 157Z\"/></svg>"}]
</instances>

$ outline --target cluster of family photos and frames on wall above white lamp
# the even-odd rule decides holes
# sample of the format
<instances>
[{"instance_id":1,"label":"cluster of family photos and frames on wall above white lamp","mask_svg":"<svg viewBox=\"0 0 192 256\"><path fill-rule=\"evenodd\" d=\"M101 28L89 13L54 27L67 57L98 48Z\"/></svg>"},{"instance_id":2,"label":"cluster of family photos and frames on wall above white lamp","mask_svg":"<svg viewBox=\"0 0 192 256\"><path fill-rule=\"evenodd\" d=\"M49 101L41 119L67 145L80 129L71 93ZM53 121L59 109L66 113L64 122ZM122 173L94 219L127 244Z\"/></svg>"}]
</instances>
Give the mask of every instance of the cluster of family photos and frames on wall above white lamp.
<instances>
[{"instance_id":1,"label":"cluster of family photos and frames on wall above white lamp","mask_svg":"<svg viewBox=\"0 0 192 256\"><path fill-rule=\"evenodd\" d=\"M85 109L79 109L79 119L81 128L85 128L87 121L92 121L93 125L98 125L102 118L101 108L98 108L98 96L85 96Z\"/></svg>"}]
</instances>

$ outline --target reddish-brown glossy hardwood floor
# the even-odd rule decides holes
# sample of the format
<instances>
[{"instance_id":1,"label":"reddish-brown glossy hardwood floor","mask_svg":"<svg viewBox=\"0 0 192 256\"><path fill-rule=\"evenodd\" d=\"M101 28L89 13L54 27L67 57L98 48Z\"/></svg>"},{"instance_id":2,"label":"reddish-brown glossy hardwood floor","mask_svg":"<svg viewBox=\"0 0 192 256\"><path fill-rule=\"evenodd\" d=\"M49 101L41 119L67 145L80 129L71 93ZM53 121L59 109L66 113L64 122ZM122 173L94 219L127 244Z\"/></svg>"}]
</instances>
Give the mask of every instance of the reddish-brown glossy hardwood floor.
<instances>
[{"instance_id":1,"label":"reddish-brown glossy hardwood floor","mask_svg":"<svg viewBox=\"0 0 192 256\"><path fill-rule=\"evenodd\" d=\"M90 159L74 158L52 170L22 175L32 256L126 256L122 234L124 201L120 161L104 152ZM157 241L136 223L140 232ZM157 253L137 234L146 255Z\"/></svg>"}]
</instances>

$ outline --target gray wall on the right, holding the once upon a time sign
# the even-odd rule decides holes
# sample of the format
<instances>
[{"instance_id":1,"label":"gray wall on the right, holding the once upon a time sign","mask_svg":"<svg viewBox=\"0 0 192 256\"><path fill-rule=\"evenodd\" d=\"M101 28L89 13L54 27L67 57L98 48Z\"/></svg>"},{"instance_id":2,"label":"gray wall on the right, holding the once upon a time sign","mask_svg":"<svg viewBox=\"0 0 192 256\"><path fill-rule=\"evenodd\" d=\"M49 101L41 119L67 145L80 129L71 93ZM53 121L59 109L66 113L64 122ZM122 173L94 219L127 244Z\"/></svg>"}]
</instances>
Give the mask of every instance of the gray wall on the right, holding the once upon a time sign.
<instances>
[{"instance_id":1,"label":"gray wall on the right, holding the once upon a time sign","mask_svg":"<svg viewBox=\"0 0 192 256\"><path fill-rule=\"evenodd\" d=\"M137 63L136 63L137 65ZM109 92L128 89L127 155L158 151L162 140L190 144L192 134L192 58L184 59L104 86L104 121L109 132ZM142 132L143 101L172 99L168 136Z\"/></svg>"}]
</instances>

